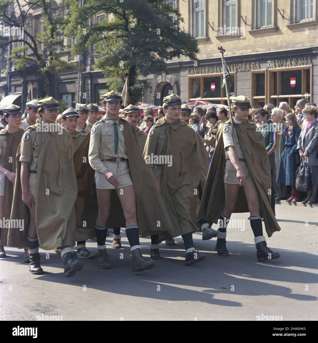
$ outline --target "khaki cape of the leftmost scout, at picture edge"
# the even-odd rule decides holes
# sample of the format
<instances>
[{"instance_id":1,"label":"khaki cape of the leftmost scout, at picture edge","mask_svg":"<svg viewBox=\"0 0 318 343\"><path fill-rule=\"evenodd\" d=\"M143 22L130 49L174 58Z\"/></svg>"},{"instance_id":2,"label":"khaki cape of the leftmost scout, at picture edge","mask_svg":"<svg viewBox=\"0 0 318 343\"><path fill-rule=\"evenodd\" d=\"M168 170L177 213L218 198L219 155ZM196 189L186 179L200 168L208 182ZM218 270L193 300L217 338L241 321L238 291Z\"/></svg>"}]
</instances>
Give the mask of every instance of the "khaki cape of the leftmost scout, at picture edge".
<instances>
[{"instance_id":1,"label":"khaki cape of the leftmost scout, at picture edge","mask_svg":"<svg viewBox=\"0 0 318 343\"><path fill-rule=\"evenodd\" d=\"M24 134L24 130L20 127L20 130L15 133L9 133L7 128L0 131L0 135L7 135L7 150L5 152L5 166L4 168L15 173L15 156L19 147L21 138ZM13 189L14 183L11 182L7 177L4 178L4 197L3 197L3 208L2 218L10 220L12 200L13 200ZM5 223L2 223L1 228L1 239L0 246L5 246L8 243L8 227L5 227ZM27 245L24 246L24 248Z\"/></svg>"}]
</instances>

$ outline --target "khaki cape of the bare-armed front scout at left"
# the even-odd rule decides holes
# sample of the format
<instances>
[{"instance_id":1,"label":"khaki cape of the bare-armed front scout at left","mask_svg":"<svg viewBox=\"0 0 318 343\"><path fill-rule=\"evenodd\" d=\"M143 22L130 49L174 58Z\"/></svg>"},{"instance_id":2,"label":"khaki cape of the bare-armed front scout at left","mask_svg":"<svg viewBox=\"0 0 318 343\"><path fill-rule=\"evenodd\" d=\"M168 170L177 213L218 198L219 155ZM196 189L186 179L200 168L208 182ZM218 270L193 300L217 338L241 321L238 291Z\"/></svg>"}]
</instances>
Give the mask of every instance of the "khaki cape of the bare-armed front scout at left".
<instances>
[{"instance_id":1,"label":"khaki cape of the bare-armed front scout at left","mask_svg":"<svg viewBox=\"0 0 318 343\"><path fill-rule=\"evenodd\" d=\"M37 125L25 132L31 134ZM32 134L34 134L32 132ZM39 245L44 250L74 246L76 235L75 200L77 186L73 166L72 142L63 128L58 132L36 132L39 142L35 222ZM11 219L23 219L24 229L10 228L8 245L15 248L28 246L29 211L22 201L20 146L16 156ZM18 182L19 181L19 182ZM47 194L49 192L49 194Z\"/></svg>"}]
</instances>

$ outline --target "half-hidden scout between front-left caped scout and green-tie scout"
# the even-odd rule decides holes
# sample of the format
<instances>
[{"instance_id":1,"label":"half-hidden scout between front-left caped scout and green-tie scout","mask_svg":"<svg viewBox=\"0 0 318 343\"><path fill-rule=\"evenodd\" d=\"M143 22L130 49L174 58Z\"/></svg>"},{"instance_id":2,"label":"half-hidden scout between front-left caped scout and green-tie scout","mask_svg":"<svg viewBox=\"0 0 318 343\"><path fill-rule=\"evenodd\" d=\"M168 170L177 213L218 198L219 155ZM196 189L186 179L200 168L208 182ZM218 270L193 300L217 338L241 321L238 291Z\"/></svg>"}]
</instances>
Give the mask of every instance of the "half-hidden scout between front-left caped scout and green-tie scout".
<instances>
[{"instance_id":1,"label":"half-hidden scout between front-left caped scout and green-tie scout","mask_svg":"<svg viewBox=\"0 0 318 343\"><path fill-rule=\"evenodd\" d=\"M64 111L62 113L63 126L66 129L66 131L72 137L73 157L74 157L74 153L75 153L76 149L79 147L79 145L83 141L83 139L85 139L85 137L86 137L86 139L88 141L90 140L90 137L87 137L83 132L76 129L78 118L79 118L78 113L72 107L68 108L66 111ZM88 133L87 135L90 136L90 133ZM81 159L81 162L83 163L83 159ZM88 162L87 162L87 164L88 164ZM75 164L74 164L74 167L75 167ZM81 190L79 188L82 188L82 181L85 182L85 180L81 180L81 179L79 180L76 177L76 181L78 182L78 193L81 194ZM80 184L79 184L79 182L80 182ZM78 196L76 198L75 207L76 207L76 218L78 218L79 216L81 217L80 223L82 226L82 223L83 223L82 214L84 211L84 199L83 199L83 197ZM82 231L83 231L82 228L77 227L76 237L78 235L81 235ZM86 230L86 233L89 233L89 230ZM93 231L93 234L91 236L89 235L89 237L87 239L91 239L92 237L94 237L94 231ZM76 245L77 245L76 246L76 249L77 249L77 255L76 256L78 258L93 258L93 257L97 256L96 253L90 252L89 250L86 249L86 238L85 238L85 240L77 241ZM60 253L60 249L55 249L55 252Z\"/></svg>"}]
</instances>

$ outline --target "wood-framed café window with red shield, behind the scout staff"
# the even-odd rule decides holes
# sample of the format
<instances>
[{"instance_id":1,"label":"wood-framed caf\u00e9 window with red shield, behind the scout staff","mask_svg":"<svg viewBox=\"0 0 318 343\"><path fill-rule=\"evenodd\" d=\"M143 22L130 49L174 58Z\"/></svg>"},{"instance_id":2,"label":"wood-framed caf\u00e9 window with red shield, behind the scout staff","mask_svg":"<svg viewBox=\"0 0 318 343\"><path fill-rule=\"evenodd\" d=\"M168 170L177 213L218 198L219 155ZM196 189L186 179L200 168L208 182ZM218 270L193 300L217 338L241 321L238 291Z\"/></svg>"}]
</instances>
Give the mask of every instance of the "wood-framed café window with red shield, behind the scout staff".
<instances>
[{"instance_id":1,"label":"wood-framed caf\u00e9 window with red shield, behind the scout staff","mask_svg":"<svg viewBox=\"0 0 318 343\"><path fill-rule=\"evenodd\" d=\"M227 105L226 90L222 88L223 74L198 75L189 77L188 81L189 101L201 99ZM234 96L235 73L230 73L227 86L230 97Z\"/></svg>"}]
</instances>

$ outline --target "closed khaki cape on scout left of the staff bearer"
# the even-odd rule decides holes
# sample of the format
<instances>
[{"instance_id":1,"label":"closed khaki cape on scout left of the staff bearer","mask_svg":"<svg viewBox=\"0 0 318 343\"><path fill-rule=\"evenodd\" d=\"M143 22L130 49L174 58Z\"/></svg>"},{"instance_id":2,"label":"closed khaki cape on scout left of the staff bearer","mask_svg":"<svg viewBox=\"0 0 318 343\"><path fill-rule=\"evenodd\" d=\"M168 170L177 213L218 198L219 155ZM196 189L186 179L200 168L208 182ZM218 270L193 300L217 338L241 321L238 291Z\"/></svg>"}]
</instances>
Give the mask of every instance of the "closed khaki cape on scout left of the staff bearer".
<instances>
[{"instance_id":1,"label":"closed khaki cape on scout left of the staff bearer","mask_svg":"<svg viewBox=\"0 0 318 343\"><path fill-rule=\"evenodd\" d=\"M167 123L157 120L153 130L165 126L163 155L172 155L172 165L162 165L160 194L172 226L169 236L177 237L200 231L196 221L197 195L202 195L208 172L205 147L201 137L184 121ZM144 156L147 153L146 141Z\"/></svg>"}]
</instances>

